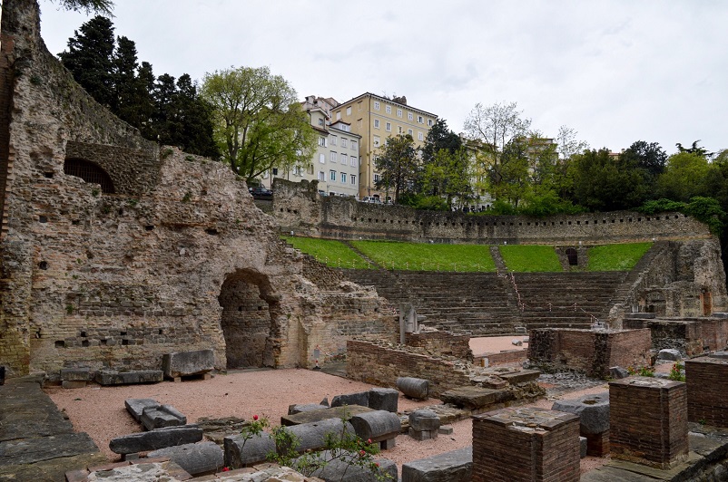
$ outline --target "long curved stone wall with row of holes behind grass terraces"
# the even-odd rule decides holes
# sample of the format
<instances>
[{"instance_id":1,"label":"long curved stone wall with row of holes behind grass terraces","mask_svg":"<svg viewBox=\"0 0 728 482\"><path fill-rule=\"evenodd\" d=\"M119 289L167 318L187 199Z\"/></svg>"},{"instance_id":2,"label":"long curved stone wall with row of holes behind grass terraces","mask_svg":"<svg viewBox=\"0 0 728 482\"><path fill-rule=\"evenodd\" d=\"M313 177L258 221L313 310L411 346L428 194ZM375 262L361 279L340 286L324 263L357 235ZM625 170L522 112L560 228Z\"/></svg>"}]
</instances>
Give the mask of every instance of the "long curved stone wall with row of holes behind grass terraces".
<instances>
[{"instance_id":1,"label":"long curved stone wall with row of holes behind grass terraces","mask_svg":"<svg viewBox=\"0 0 728 482\"><path fill-rule=\"evenodd\" d=\"M273 213L280 229L303 236L412 242L598 245L665 239L709 239L708 227L680 213L645 216L615 211L552 217L472 216L360 203L320 196L316 181L276 178Z\"/></svg>"}]
</instances>

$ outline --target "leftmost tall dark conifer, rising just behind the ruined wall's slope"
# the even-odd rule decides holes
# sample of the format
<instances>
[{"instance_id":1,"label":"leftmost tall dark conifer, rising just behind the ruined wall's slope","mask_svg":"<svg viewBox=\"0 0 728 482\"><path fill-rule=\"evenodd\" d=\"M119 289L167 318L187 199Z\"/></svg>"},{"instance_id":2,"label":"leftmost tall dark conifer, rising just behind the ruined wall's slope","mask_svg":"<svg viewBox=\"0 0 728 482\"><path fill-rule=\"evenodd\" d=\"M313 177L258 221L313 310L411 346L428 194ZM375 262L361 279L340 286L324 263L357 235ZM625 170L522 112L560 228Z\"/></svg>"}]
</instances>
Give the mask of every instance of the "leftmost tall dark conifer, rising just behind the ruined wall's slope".
<instances>
[{"instance_id":1,"label":"leftmost tall dark conifer, rising just behind the ruined wall's slope","mask_svg":"<svg viewBox=\"0 0 728 482\"><path fill-rule=\"evenodd\" d=\"M113 24L101 15L81 25L58 54L74 79L99 103L113 108Z\"/></svg>"}]
</instances>

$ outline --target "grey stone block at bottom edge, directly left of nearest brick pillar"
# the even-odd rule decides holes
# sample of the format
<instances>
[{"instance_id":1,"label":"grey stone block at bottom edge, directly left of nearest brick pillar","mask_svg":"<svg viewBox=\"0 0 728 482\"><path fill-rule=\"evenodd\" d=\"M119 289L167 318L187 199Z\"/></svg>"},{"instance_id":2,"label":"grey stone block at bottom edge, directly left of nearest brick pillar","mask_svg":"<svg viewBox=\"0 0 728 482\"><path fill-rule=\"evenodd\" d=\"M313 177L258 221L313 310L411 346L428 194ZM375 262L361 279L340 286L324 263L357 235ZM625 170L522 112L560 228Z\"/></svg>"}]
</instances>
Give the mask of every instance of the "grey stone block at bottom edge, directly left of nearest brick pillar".
<instances>
[{"instance_id":1,"label":"grey stone block at bottom edge, directly left of nearest brick pillar","mask_svg":"<svg viewBox=\"0 0 728 482\"><path fill-rule=\"evenodd\" d=\"M473 448L459 448L402 465L402 482L469 482Z\"/></svg>"}]
</instances>

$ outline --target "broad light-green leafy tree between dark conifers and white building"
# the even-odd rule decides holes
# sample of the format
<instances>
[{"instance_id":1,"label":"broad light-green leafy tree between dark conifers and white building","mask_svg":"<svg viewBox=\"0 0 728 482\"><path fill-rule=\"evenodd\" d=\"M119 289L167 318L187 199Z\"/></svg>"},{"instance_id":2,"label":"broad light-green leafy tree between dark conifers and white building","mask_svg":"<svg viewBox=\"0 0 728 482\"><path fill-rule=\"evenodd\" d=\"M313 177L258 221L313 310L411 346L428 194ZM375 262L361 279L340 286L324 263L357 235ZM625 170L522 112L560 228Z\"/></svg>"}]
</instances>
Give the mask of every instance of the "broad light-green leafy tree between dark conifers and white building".
<instances>
[{"instance_id":1,"label":"broad light-green leafy tree between dark conifers and white building","mask_svg":"<svg viewBox=\"0 0 728 482\"><path fill-rule=\"evenodd\" d=\"M272 167L305 165L315 131L296 91L268 67L206 73L202 97L212 105L222 159L248 180Z\"/></svg>"}]
</instances>

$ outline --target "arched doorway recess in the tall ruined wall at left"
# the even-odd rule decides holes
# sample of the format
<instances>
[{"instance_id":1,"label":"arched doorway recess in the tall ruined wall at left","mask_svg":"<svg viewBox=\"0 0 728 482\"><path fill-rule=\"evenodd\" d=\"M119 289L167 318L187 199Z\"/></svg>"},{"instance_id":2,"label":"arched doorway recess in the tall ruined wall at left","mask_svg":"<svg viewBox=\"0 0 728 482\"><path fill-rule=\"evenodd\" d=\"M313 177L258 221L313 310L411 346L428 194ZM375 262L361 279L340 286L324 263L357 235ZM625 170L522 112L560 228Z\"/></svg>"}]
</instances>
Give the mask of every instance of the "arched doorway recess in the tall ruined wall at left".
<instances>
[{"instance_id":1,"label":"arched doorway recess in the tall ruined wall at left","mask_svg":"<svg viewBox=\"0 0 728 482\"><path fill-rule=\"evenodd\" d=\"M218 302L225 339L227 368L251 368L275 364L275 344L280 312L268 276L239 270L222 284Z\"/></svg>"}]
</instances>

